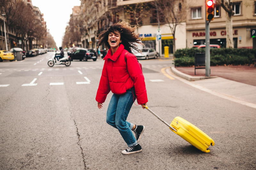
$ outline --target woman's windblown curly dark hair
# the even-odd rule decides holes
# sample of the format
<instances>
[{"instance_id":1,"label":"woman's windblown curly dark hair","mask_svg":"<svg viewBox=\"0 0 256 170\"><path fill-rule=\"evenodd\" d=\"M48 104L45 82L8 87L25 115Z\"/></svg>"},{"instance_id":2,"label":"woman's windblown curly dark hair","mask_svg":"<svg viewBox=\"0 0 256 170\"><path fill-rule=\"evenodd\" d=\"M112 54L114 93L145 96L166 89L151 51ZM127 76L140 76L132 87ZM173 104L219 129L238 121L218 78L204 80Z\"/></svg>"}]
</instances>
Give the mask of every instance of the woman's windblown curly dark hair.
<instances>
[{"instance_id":1,"label":"woman's windblown curly dark hair","mask_svg":"<svg viewBox=\"0 0 256 170\"><path fill-rule=\"evenodd\" d=\"M140 50L136 47L135 43L142 44L140 41L142 37L140 37L139 33L136 33L136 26L131 27L127 22L121 22L121 23L115 23L111 25L108 30L102 31L97 39L99 39L99 46L104 43L105 48L110 49L110 45L108 44L108 34L111 32L119 32L120 38L122 40L122 43L124 45L124 49L127 50L129 53L132 53L132 48L139 53ZM142 44L143 45L143 44Z\"/></svg>"}]
</instances>

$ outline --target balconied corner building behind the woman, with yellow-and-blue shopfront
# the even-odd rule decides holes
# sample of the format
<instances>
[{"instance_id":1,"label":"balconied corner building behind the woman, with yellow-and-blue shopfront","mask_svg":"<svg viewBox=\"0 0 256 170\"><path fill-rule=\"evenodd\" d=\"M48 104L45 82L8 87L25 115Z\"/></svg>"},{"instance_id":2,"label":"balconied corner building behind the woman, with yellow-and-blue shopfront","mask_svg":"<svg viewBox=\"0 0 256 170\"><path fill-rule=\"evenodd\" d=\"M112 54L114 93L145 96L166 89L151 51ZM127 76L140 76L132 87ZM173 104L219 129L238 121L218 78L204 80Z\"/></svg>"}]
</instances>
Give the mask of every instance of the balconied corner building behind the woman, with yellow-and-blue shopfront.
<instances>
[{"instance_id":1,"label":"balconied corner building behind the woman, with yellow-and-blue shopfront","mask_svg":"<svg viewBox=\"0 0 256 170\"><path fill-rule=\"evenodd\" d=\"M150 5L153 0L81 0L81 12L84 19L84 33L81 38L82 44L86 48L96 48L96 37L101 31L106 30L110 25L126 21L132 26L138 25L130 19L131 15L127 11L128 6L136 6L136 4L144 3L150 8L147 14L143 14L139 21L139 28L137 31L140 36L144 36L144 47L154 48L160 53L164 53L164 46L169 46L169 52L173 53L173 35L170 27L162 22L160 18L160 24L158 28L158 20L156 18L156 9L153 5ZM151 9L152 8L152 9ZM156 39L157 30L161 30L161 40ZM176 29L176 49L186 48L186 22L182 22ZM159 48L160 46L160 48ZM101 49L104 46L100 47Z\"/></svg>"}]
</instances>

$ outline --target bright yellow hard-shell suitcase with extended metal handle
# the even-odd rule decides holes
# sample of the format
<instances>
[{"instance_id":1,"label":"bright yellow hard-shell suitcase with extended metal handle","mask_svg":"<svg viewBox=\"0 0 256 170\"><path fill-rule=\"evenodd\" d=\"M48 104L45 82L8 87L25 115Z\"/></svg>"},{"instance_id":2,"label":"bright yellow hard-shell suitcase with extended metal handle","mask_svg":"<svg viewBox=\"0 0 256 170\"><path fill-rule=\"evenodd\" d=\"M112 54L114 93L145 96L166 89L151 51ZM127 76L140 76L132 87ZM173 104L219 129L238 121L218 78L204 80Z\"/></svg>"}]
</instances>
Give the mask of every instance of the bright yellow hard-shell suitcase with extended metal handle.
<instances>
[{"instance_id":1,"label":"bright yellow hard-shell suitcase with extended metal handle","mask_svg":"<svg viewBox=\"0 0 256 170\"><path fill-rule=\"evenodd\" d=\"M185 139L188 143L203 152L210 152L210 149L208 149L208 147L210 145L213 146L214 141L195 125L189 123L187 120L181 117L175 117L172 123L169 125L159 116L157 116L152 110L150 110L148 106L144 105L144 107L159 120L161 120L164 124L166 124L174 133Z\"/></svg>"}]
</instances>

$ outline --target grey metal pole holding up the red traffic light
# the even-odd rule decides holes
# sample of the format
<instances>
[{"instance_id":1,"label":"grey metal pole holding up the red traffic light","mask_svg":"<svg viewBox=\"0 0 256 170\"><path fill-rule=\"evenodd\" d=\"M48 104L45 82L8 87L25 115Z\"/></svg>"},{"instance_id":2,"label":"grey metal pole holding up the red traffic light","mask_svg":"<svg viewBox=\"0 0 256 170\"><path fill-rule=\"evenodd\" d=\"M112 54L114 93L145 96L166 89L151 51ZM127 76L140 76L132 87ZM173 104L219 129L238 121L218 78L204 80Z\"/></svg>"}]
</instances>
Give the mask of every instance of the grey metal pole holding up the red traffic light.
<instances>
[{"instance_id":1,"label":"grey metal pole holding up the red traffic light","mask_svg":"<svg viewBox=\"0 0 256 170\"><path fill-rule=\"evenodd\" d=\"M206 5L206 2L205 2ZM206 9L206 7L205 7ZM206 20L205 10L205 76L210 77L210 22Z\"/></svg>"}]
</instances>

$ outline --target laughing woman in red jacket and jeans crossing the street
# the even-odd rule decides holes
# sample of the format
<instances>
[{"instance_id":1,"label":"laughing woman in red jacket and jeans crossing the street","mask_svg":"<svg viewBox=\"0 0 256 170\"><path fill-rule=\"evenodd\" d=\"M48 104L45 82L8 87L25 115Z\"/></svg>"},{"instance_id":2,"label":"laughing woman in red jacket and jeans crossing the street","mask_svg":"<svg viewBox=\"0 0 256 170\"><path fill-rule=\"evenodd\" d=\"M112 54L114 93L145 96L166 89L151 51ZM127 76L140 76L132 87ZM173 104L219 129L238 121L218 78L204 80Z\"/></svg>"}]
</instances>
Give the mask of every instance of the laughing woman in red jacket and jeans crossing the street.
<instances>
[{"instance_id":1,"label":"laughing woman in red jacket and jeans crossing the street","mask_svg":"<svg viewBox=\"0 0 256 170\"><path fill-rule=\"evenodd\" d=\"M144 76L137 58L131 51L133 48L139 52L134 43L140 43L141 39L139 34L135 33L135 29L136 27L132 28L125 22L116 23L98 37L98 48L104 43L105 48L109 50L104 58L96 101L98 108L101 109L108 93L112 91L113 96L107 110L107 123L118 129L128 145L128 148L122 151L123 154L142 151L138 141L145 127L127 122L126 118L136 99L135 96L143 109L148 102Z\"/></svg>"}]
</instances>

